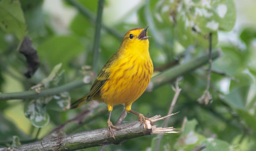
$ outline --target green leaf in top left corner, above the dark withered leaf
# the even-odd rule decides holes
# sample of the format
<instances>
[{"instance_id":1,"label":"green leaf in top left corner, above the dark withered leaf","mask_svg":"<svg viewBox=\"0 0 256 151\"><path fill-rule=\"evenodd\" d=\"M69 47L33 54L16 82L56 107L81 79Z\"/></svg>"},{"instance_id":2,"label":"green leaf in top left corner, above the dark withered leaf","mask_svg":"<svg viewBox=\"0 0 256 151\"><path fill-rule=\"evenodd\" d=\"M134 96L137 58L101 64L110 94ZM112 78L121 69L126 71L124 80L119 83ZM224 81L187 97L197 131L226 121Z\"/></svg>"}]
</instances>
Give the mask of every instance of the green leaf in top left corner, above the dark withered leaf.
<instances>
[{"instance_id":1,"label":"green leaf in top left corner, above the dark withered leaf","mask_svg":"<svg viewBox=\"0 0 256 151\"><path fill-rule=\"evenodd\" d=\"M26 35L26 23L18 0L0 1L0 27L15 34L21 41Z\"/></svg>"}]
</instances>

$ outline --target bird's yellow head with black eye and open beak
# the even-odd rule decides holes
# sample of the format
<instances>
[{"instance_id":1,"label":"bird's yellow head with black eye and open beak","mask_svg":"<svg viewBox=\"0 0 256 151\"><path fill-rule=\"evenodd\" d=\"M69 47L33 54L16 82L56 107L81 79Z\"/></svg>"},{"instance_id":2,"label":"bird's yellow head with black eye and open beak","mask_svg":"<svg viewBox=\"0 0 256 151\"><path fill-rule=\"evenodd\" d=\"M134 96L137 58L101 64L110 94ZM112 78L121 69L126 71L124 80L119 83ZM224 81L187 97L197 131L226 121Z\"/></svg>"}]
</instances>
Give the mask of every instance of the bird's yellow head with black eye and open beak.
<instances>
[{"instance_id":1,"label":"bird's yellow head with black eye and open beak","mask_svg":"<svg viewBox=\"0 0 256 151\"><path fill-rule=\"evenodd\" d=\"M121 47L125 49L130 49L130 50L146 50L148 51L149 47L149 42L148 42L148 37L147 36L147 29L143 28L135 28L132 30L129 30L125 35L123 42L121 44Z\"/></svg>"}]
</instances>

